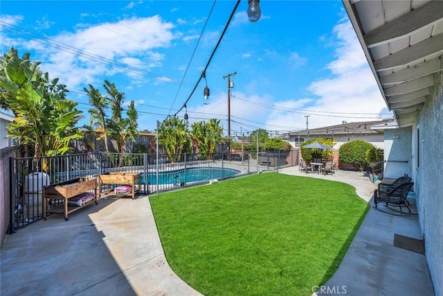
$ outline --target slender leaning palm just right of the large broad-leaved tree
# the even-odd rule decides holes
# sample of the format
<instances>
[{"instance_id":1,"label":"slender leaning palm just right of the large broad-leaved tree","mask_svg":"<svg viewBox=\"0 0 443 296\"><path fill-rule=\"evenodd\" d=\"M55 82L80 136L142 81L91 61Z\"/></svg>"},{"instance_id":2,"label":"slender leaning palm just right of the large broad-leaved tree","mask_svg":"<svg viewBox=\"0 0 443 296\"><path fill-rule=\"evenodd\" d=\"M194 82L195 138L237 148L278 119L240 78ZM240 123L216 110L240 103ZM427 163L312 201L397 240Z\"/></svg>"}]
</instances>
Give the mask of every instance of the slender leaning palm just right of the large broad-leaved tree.
<instances>
[{"instance_id":1,"label":"slender leaning palm just right of the large broad-leaved tree","mask_svg":"<svg viewBox=\"0 0 443 296\"><path fill-rule=\"evenodd\" d=\"M96 123L98 127L101 129L102 134L97 139L105 140L105 150L109 153L108 146L108 135L107 135L107 126L106 126L106 110L109 107L109 103L107 102L107 98L102 96L100 90L94 88L92 85L89 85L89 89L86 87L83 88L84 92L89 96L89 104L93 106L92 109L89 109L88 112L91 114L91 118L89 119L89 125L93 126L93 123Z\"/></svg>"}]
</instances>

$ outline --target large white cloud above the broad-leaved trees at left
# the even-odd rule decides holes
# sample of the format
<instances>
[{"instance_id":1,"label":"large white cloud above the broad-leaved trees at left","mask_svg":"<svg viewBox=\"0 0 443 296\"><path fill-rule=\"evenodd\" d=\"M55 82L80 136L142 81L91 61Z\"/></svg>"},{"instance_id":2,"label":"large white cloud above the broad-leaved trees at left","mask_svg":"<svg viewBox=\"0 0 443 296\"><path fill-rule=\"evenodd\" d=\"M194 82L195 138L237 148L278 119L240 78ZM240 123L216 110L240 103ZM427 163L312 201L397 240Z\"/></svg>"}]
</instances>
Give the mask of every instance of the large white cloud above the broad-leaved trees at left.
<instances>
[{"instance_id":1,"label":"large white cloud above the broad-leaved trees at left","mask_svg":"<svg viewBox=\"0 0 443 296\"><path fill-rule=\"evenodd\" d=\"M96 82L98 77L104 75L139 75L121 69L112 61L145 71L160 67L164 54L159 50L170 46L174 40L172 28L174 26L171 23L163 21L158 15L132 17L50 36L57 44L66 44L60 48L24 40L21 40L21 45L37 51L43 57L39 58L42 70L51 73L51 77L60 78L60 81L69 85L69 89L78 89L87 83Z\"/></svg>"}]
</instances>

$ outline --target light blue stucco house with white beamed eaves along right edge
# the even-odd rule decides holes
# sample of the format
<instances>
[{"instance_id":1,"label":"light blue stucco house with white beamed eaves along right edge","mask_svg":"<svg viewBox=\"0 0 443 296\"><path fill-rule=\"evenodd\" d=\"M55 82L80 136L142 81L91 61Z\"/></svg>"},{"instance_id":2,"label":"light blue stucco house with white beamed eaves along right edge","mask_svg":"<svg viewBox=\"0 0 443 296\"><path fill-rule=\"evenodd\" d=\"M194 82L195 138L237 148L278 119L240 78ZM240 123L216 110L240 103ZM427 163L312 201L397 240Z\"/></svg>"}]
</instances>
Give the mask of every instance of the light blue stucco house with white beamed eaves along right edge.
<instances>
[{"instance_id":1,"label":"light blue stucco house with white beamed eaves along right edge","mask_svg":"<svg viewBox=\"0 0 443 296\"><path fill-rule=\"evenodd\" d=\"M435 295L443 295L443 3L343 4L398 124L384 133L385 176L405 172L415 182L426 261Z\"/></svg>"}]
</instances>

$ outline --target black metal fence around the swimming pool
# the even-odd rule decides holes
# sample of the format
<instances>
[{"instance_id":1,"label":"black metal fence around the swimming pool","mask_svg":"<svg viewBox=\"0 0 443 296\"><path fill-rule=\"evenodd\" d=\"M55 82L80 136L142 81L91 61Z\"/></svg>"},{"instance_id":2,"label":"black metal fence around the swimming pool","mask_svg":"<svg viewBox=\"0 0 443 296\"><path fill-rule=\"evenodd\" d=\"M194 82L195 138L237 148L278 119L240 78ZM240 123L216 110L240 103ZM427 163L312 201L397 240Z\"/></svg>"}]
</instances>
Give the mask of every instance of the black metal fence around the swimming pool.
<instances>
[{"instance_id":1,"label":"black metal fence around the swimming pool","mask_svg":"<svg viewBox=\"0 0 443 296\"><path fill-rule=\"evenodd\" d=\"M12 190L8 233L12 234L17 229L42 219L42 190L50 184L78 177L93 178L109 172L140 173L141 184L137 184L139 192L152 194L217 182L257 171L278 171L284 166L298 165L298 158L294 155L293 151L271 151L259 153L256 159L251 159L247 153L183 154L178 161L175 155L168 157L146 153L10 158ZM60 204L62 200L55 200L46 206L52 209Z\"/></svg>"}]
</instances>

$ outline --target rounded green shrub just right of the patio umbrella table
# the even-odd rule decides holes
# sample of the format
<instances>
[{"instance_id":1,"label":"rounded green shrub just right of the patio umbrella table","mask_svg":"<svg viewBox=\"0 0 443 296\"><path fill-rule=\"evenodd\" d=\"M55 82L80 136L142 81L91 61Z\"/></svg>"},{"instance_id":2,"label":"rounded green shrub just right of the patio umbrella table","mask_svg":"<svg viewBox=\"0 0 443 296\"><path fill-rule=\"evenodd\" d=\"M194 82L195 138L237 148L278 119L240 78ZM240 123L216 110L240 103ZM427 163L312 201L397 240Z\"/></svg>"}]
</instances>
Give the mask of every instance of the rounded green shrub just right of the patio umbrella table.
<instances>
[{"instance_id":1,"label":"rounded green shrub just right of the patio umbrella table","mask_svg":"<svg viewBox=\"0 0 443 296\"><path fill-rule=\"evenodd\" d=\"M344 143L339 149L339 161L341 163L354 164L359 171L363 171L368 166L366 151L374 148L372 143L363 140L354 140Z\"/></svg>"}]
</instances>

